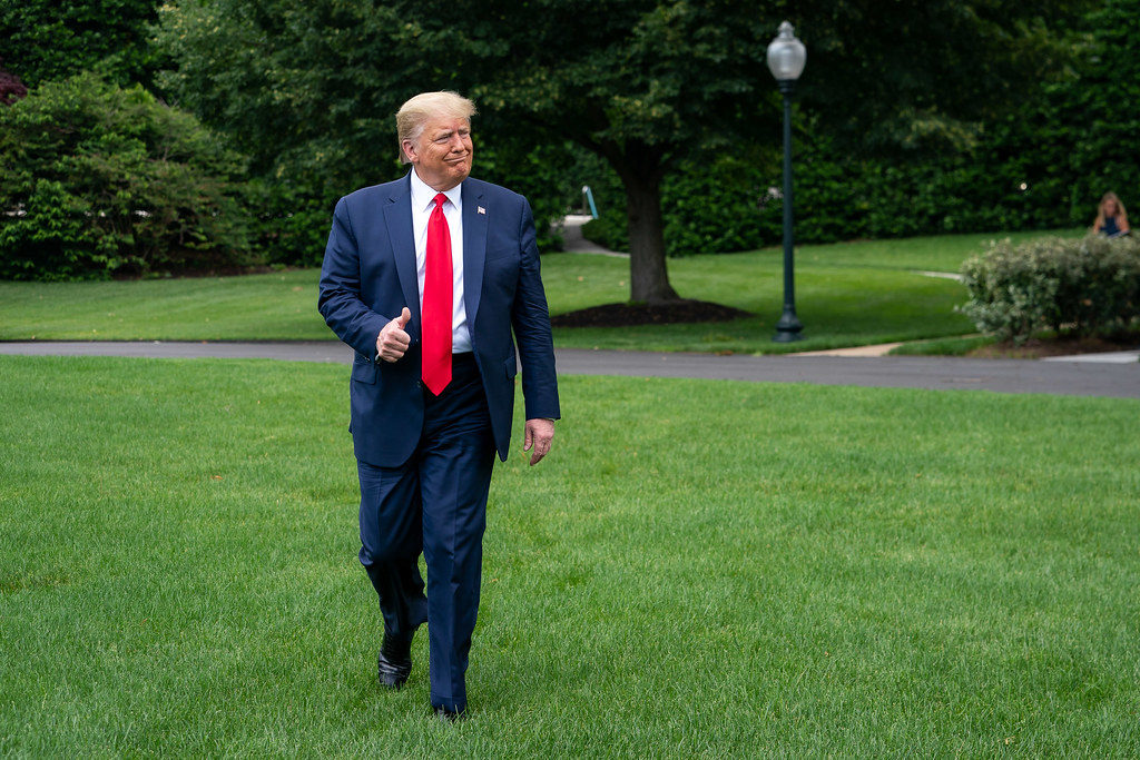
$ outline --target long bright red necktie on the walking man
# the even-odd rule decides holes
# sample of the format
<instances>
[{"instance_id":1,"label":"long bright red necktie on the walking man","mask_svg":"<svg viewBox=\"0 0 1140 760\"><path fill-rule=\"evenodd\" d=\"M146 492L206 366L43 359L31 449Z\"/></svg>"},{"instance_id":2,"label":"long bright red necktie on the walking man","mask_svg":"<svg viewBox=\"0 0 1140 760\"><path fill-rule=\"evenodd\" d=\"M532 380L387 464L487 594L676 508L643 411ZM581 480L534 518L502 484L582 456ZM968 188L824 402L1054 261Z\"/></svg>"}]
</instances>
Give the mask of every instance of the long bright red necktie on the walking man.
<instances>
[{"instance_id":1,"label":"long bright red necktie on the walking man","mask_svg":"<svg viewBox=\"0 0 1140 760\"><path fill-rule=\"evenodd\" d=\"M435 196L427 219L427 256L424 267L423 377L439 395L451 382L451 231L443 215L447 196Z\"/></svg>"}]
</instances>

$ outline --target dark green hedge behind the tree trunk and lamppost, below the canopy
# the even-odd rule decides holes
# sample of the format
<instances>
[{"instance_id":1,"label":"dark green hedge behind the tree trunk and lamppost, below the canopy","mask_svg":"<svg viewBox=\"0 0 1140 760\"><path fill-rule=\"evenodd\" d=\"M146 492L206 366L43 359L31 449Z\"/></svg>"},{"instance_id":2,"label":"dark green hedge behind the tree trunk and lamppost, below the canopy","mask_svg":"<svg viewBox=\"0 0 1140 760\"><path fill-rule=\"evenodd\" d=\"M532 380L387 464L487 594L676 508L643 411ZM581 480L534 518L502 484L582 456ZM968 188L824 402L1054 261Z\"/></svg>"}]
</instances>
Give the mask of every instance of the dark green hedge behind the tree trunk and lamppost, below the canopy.
<instances>
[{"instance_id":1,"label":"dark green hedge behind the tree trunk and lamppost, below the canopy","mask_svg":"<svg viewBox=\"0 0 1140 760\"><path fill-rule=\"evenodd\" d=\"M1039 106L1039 115L1047 106ZM804 119L800 116L800 119ZM1047 122L1048 123L1048 122ZM817 121L795 137L797 243L910 237L940 232L1049 229L1091 221L1094 201L1074 203L1075 139L1026 117L986 129L967 150L937 156L858 158ZM775 245L783 234L782 158L754 145L747 160L714 154L683 162L662 187L670 256L732 253ZM612 179L593 180L598 187ZM1024 188L1023 188L1024 185ZM611 195L611 197L613 197ZM628 250L624 205L602 209L584 234Z\"/></svg>"}]
</instances>

